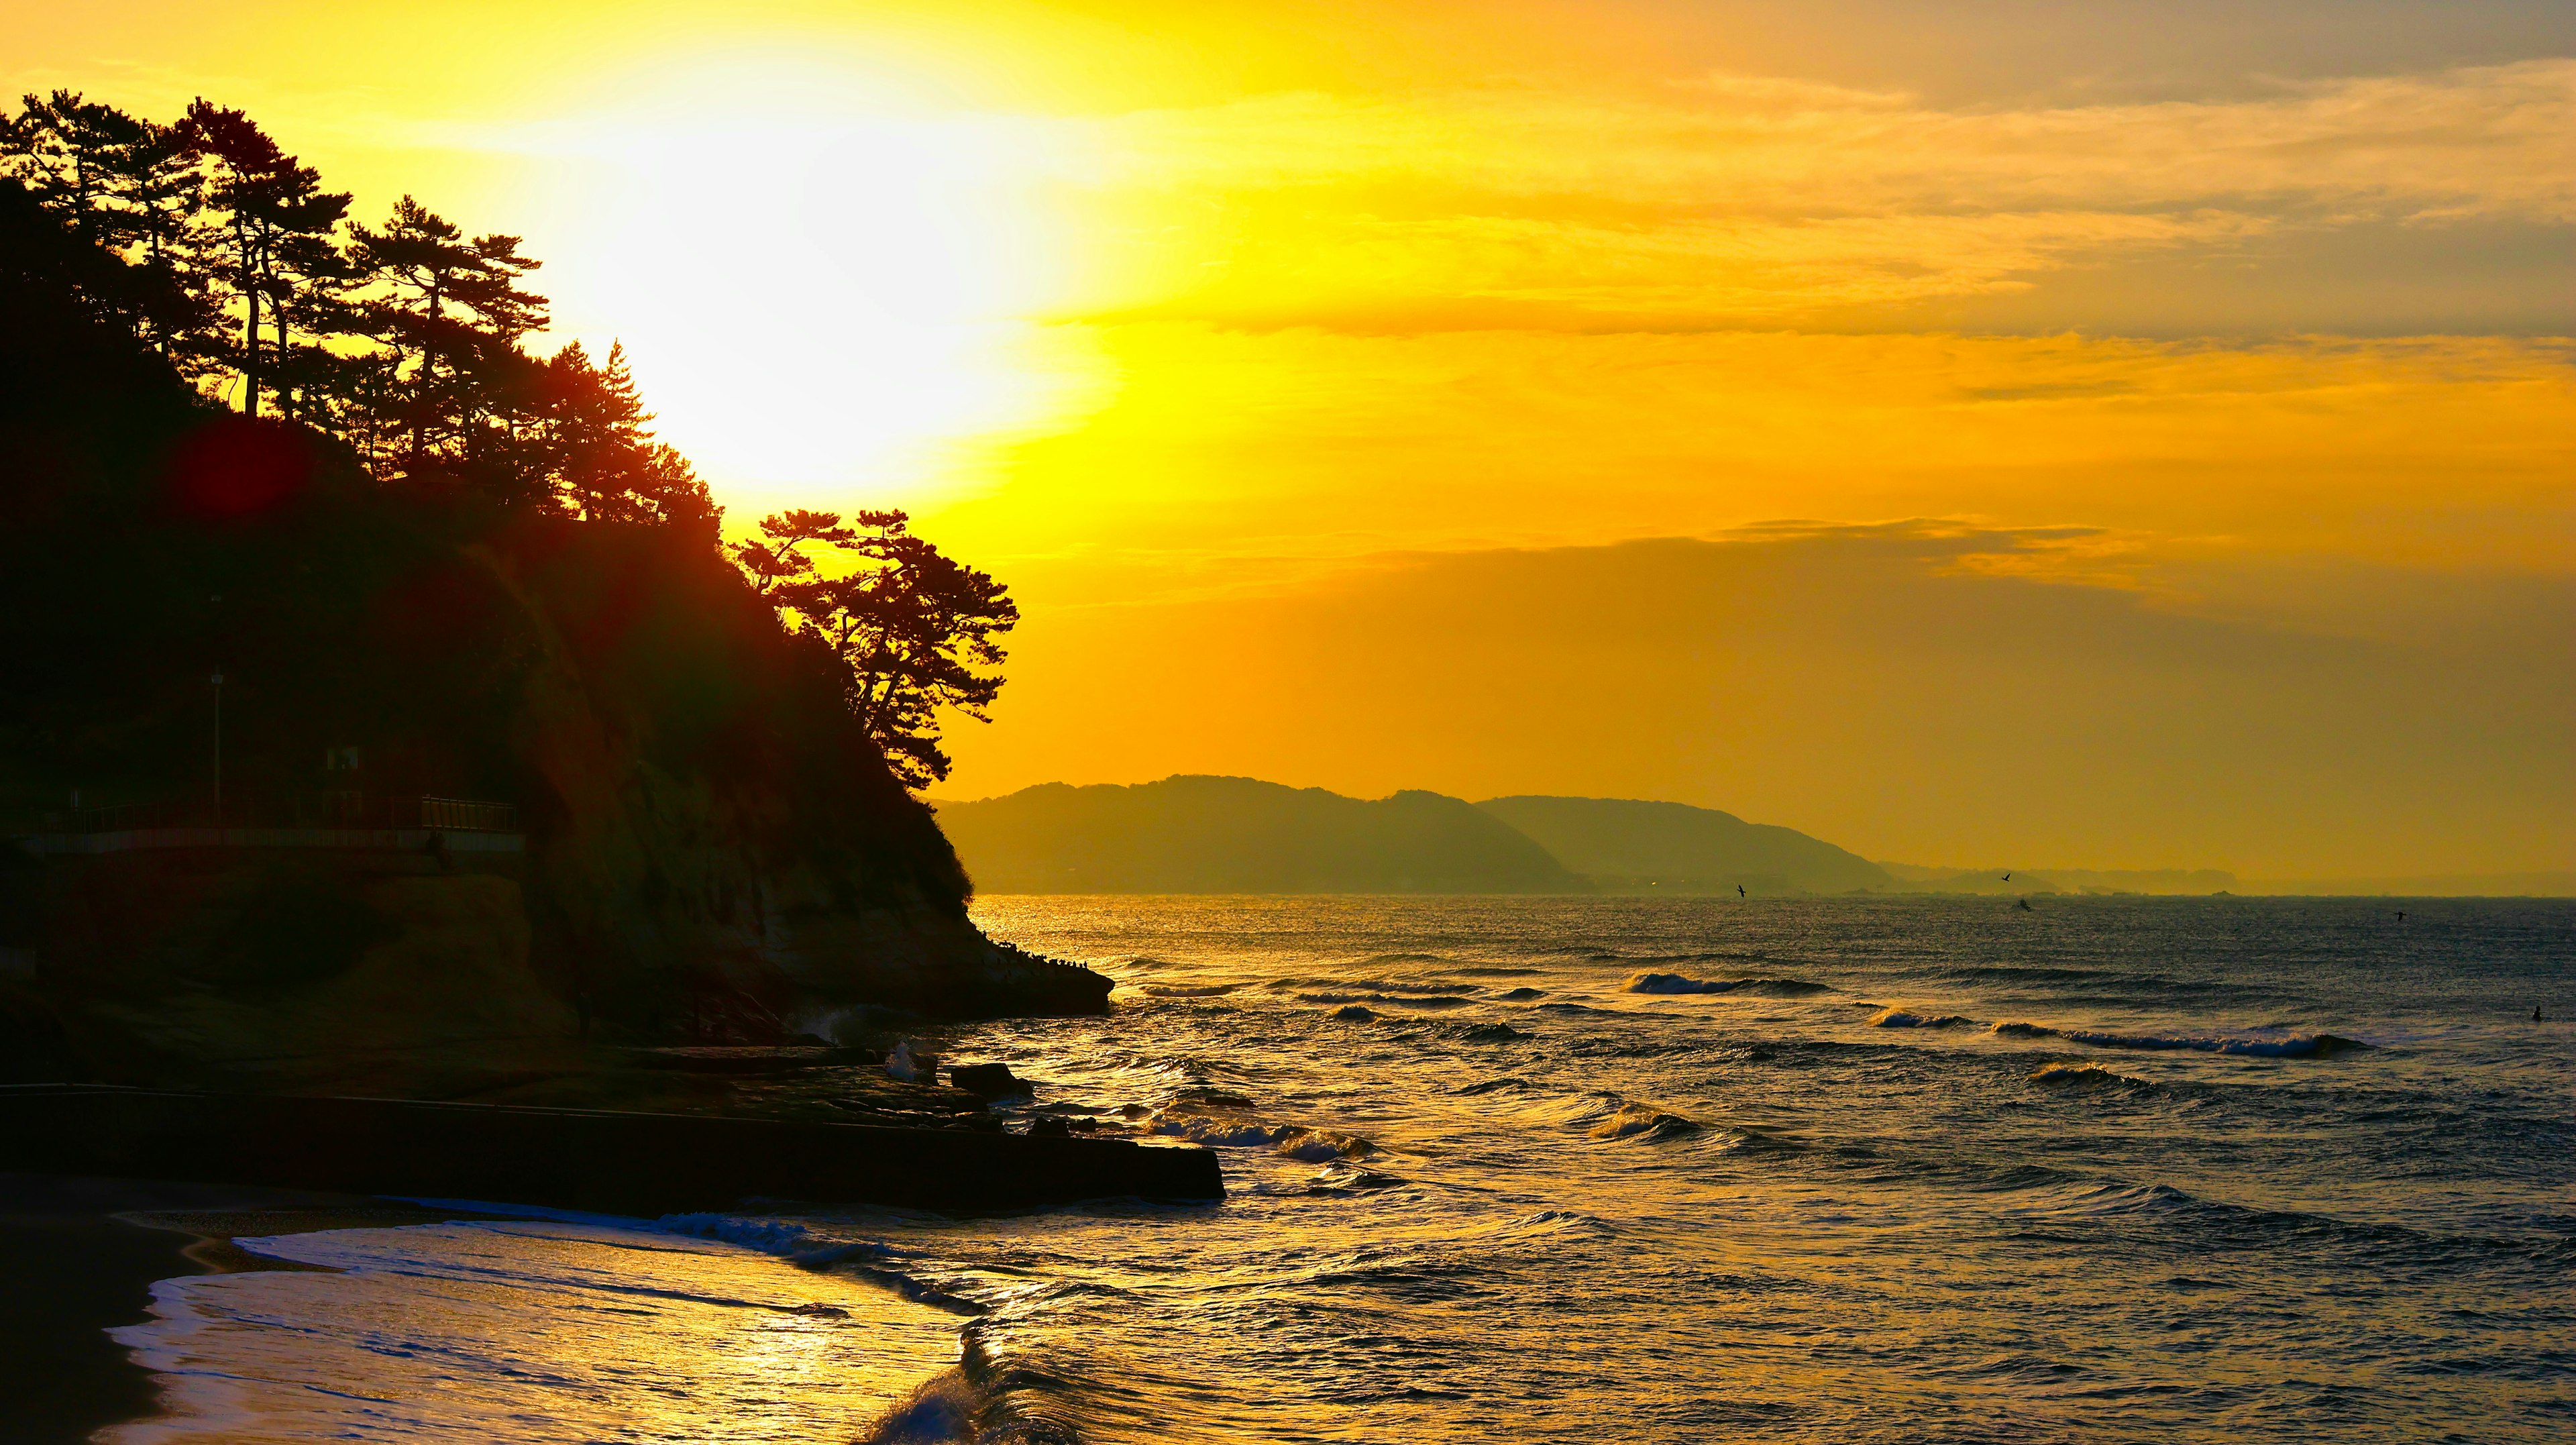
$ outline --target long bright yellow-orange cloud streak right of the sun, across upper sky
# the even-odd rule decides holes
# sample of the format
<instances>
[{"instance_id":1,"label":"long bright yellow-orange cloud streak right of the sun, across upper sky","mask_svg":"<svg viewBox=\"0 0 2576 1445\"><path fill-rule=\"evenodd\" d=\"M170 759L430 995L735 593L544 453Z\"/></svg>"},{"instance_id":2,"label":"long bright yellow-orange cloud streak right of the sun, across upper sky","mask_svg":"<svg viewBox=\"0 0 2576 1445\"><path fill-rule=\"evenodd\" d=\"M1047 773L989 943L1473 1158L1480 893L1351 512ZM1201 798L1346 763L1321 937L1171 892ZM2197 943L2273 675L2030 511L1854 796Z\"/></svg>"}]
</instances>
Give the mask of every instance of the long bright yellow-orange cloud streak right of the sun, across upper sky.
<instances>
[{"instance_id":1,"label":"long bright yellow-orange cloud streak right of the sun, across upper sky","mask_svg":"<svg viewBox=\"0 0 2576 1445\"><path fill-rule=\"evenodd\" d=\"M1301 93L1064 126L1061 175L1133 222L1123 304L1234 319L1435 296L1530 312L1450 325L1783 319L2282 229L2576 224L2576 59L2254 100L1935 108L1713 77L1651 100Z\"/></svg>"}]
</instances>

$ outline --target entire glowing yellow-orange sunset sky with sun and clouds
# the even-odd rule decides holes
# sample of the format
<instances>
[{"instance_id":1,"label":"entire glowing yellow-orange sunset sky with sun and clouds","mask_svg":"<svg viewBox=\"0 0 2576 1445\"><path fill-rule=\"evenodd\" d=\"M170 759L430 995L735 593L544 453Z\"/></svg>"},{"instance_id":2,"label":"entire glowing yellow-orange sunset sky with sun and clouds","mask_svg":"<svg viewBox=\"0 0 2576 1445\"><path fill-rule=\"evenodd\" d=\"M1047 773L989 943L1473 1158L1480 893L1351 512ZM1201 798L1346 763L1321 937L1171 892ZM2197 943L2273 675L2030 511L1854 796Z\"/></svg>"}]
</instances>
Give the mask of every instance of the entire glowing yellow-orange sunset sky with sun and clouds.
<instances>
[{"instance_id":1,"label":"entire glowing yellow-orange sunset sky with sun and clouds","mask_svg":"<svg viewBox=\"0 0 2576 1445\"><path fill-rule=\"evenodd\" d=\"M2576 868L2576 5L33 5L1028 621L943 796Z\"/></svg>"}]
</instances>

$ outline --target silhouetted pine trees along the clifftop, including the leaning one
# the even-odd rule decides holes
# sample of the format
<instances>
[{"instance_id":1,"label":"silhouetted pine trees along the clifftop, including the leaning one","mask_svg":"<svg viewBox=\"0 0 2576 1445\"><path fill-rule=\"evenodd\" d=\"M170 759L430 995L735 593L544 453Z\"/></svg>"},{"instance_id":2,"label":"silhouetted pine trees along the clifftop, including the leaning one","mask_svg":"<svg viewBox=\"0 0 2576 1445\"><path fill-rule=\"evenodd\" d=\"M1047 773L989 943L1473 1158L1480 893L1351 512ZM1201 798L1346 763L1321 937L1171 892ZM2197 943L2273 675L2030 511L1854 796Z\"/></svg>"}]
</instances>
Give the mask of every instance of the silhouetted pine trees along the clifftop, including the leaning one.
<instances>
[{"instance_id":1,"label":"silhouetted pine trees along the clifftop, including the leaning one","mask_svg":"<svg viewBox=\"0 0 2576 1445\"><path fill-rule=\"evenodd\" d=\"M623 345L531 353L549 304L520 237L412 196L381 227L353 222L348 193L209 100L160 124L72 90L26 95L0 113L0 188L59 227L13 260L33 291L121 332L206 407L319 433L381 487L721 546L721 510L654 438ZM1007 587L894 510L778 513L724 554L783 628L829 652L896 775L945 778L940 719L987 719L1002 688Z\"/></svg>"}]
</instances>

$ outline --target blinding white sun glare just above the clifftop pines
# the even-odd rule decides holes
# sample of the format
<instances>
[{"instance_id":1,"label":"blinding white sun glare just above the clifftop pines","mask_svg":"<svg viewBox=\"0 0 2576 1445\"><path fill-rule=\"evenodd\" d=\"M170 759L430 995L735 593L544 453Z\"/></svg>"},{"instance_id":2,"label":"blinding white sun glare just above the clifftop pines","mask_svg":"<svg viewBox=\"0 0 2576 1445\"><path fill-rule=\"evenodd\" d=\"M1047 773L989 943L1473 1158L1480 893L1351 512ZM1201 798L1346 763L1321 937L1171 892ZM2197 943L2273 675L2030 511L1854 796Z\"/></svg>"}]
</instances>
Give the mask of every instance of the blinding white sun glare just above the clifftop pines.
<instances>
[{"instance_id":1,"label":"blinding white sun glare just above the clifftop pines","mask_svg":"<svg viewBox=\"0 0 2576 1445\"><path fill-rule=\"evenodd\" d=\"M1038 137L814 88L531 126L554 332L623 340L665 440L737 520L922 500L976 438L1077 410L1023 317L1061 286ZM724 116L714 121L711 116ZM577 260L572 260L577 258ZM1038 350L1048 355L1036 358Z\"/></svg>"}]
</instances>

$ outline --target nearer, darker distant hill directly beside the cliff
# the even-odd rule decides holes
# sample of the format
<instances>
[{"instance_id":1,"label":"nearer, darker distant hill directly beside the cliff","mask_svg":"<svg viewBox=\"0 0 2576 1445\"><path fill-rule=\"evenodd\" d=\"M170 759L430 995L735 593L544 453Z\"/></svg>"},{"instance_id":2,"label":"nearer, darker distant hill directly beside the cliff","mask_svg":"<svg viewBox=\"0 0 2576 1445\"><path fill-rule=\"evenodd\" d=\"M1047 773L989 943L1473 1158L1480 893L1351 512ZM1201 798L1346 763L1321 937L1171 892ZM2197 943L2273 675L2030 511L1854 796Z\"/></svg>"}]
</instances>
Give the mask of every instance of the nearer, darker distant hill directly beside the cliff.
<instances>
[{"instance_id":1,"label":"nearer, darker distant hill directly beside the cliff","mask_svg":"<svg viewBox=\"0 0 2576 1445\"><path fill-rule=\"evenodd\" d=\"M1041 783L938 804L987 894L1571 894L1564 863L1440 793L1345 798L1255 778Z\"/></svg>"}]
</instances>

